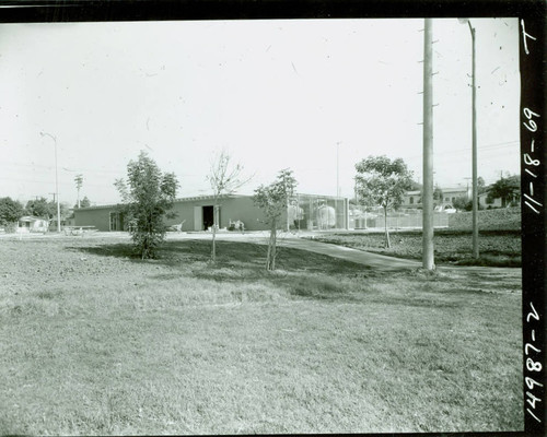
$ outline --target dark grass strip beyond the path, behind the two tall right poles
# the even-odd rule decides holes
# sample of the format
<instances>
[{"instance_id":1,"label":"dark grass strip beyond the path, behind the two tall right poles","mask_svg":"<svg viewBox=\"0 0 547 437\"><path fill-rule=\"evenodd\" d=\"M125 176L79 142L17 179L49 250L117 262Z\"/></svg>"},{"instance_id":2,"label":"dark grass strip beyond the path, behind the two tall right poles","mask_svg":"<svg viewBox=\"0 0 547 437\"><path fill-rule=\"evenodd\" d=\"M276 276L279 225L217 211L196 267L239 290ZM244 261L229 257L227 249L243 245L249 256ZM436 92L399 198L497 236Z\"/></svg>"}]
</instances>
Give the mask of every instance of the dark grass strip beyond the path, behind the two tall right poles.
<instances>
[{"instance_id":1,"label":"dark grass strip beyond the path, behind the two tall right poles","mask_svg":"<svg viewBox=\"0 0 547 437\"><path fill-rule=\"evenodd\" d=\"M389 232L392 247L386 249L383 233L333 233L315 236L317 241L333 243L369 252L421 260L421 231ZM521 267L521 231L482 231L479 233L479 259L473 258L469 231L435 229L435 263L439 265Z\"/></svg>"}]
</instances>

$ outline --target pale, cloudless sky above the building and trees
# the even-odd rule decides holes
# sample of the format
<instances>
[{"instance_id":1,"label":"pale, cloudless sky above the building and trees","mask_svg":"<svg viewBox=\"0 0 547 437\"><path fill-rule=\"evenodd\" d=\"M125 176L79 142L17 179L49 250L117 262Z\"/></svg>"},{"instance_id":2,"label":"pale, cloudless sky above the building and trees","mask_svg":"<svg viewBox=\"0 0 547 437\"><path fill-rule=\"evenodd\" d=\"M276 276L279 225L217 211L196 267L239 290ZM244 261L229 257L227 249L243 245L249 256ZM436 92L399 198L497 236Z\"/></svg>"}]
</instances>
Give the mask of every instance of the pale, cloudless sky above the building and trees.
<instances>
[{"instance_id":1,"label":"pale, cloudless sky above the building and trees","mask_svg":"<svg viewBox=\"0 0 547 437\"><path fill-rule=\"evenodd\" d=\"M516 19L476 27L478 175L520 172ZM422 181L423 20L0 24L0 197L92 204L146 151L178 197L211 193L226 150L252 193L291 168L305 193L353 196L354 165L401 157ZM434 182L472 176L472 37L433 20ZM40 134L43 132L43 134ZM57 150L57 165L56 153ZM338 185L337 185L338 180Z\"/></svg>"}]
</instances>

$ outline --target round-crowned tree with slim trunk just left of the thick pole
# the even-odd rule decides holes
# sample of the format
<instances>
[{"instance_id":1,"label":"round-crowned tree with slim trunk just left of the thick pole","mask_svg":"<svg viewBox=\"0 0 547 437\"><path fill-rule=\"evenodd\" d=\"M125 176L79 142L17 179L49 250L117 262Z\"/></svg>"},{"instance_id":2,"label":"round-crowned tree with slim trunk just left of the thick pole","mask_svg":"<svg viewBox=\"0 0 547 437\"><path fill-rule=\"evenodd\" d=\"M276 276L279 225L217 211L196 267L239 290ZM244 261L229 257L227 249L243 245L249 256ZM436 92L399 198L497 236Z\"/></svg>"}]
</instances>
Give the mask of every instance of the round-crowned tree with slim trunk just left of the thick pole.
<instances>
[{"instance_id":1,"label":"round-crowned tree with slim trunk just left of the thick pole","mask_svg":"<svg viewBox=\"0 0 547 437\"><path fill-rule=\"evenodd\" d=\"M357 192L364 204L384 209L385 246L392 247L387 231L387 209L398 208L412 182L412 173L401 158L369 156L356 164Z\"/></svg>"}]
</instances>

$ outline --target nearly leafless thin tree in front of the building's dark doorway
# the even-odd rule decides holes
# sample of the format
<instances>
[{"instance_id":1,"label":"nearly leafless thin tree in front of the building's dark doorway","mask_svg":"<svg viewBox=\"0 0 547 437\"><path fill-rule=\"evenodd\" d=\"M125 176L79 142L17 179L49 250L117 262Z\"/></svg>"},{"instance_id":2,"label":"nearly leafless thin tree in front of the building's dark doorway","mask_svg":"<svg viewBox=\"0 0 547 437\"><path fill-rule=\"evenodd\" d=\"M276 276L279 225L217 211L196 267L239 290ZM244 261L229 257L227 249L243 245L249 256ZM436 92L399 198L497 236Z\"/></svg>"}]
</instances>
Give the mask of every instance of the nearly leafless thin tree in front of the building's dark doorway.
<instances>
[{"instance_id":1,"label":"nearly leafless thin tree in front of the building's dark doorway","mask_svg":"<svg viewBox=\"0 0 547 437\"><path fill-rule=\"evenodd\" d=\"M210 173L207 176L214 197L211 262L217 260L217 227L220 226L221 200L225 196L233 194L251 180L251 177L242 178L242 172L243 166L238 163L232 164L231 156L225 150L222 150L211 162Z\"/></svg>"}]
</instances>

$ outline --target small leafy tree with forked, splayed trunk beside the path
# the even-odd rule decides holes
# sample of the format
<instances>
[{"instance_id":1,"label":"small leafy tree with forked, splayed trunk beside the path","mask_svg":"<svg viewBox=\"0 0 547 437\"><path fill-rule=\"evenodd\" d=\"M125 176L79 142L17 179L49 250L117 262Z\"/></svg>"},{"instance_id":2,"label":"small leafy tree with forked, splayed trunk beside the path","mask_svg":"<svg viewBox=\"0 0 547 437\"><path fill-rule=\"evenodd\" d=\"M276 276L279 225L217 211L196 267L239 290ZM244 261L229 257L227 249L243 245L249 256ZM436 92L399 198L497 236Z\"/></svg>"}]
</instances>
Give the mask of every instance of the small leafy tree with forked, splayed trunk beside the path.
<instances>
[{"instance_id":1,"label":"small leafy tree with forked, splayed trunk beside the path","mask_svg":"<svg viewBox=\"0 0 547 437\"><path fill-rule=\"evenodd\" d=\"M276 180L268 185L260 185L255 190L253 200L264 211L266 223L270 226L270 239L266 256L266 270L276 270L277 257L277 228L282 214L287 212L290 199L294 196L296 179L292 170L286 168L279 172Z\"/></svg>"}]
</instances>

